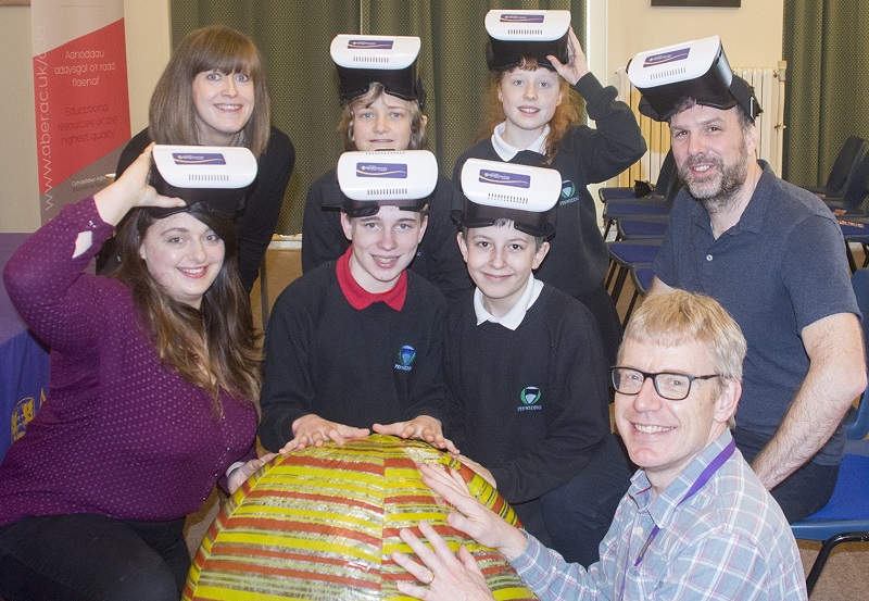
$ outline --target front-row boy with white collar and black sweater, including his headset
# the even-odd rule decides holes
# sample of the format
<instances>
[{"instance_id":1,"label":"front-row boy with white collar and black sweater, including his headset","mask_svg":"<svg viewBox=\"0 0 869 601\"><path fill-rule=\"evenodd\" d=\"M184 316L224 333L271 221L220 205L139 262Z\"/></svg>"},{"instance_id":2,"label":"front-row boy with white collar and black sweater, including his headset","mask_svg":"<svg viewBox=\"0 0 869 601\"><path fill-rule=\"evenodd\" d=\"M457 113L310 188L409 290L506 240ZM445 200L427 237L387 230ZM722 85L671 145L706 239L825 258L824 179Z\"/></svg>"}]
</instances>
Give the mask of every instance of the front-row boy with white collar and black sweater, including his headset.
<instances>
[{"instance_id":1,"label":"front-row boy with white collar and black sweater, including his headset","mask_svg":"<svg viewBox=\"0 0 869 601\"><path fill-rule=\"evenodd\" d=\"M631 469L610 434L593 316L533 276L555 230L561 176L469 159L462 189L458 246L477 289L451 308L450 436L529 533L589 565Z\"/></svg>"}]
</instances>

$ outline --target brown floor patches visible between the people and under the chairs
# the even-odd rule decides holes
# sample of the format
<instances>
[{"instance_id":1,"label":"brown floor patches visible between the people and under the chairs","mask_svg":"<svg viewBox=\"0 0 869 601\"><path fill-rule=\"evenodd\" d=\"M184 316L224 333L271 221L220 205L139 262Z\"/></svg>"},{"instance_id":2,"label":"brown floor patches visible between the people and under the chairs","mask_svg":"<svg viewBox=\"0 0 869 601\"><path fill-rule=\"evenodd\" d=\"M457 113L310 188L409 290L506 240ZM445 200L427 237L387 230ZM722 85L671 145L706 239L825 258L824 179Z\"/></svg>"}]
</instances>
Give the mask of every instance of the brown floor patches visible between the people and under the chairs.
<instances>
[{"instance_id":1,"label":"brown floor patches visible between the people and under the chairs","mask_svg":"<svg viewBox=\"0 0 869 601\"><path fill-rule=\"evenodd\" d=\"M299 273L298 247L287 245L288 248L279 252L270 253L266 261L268 265L268 287L267 297L274 302L277 293L289 279ZM864 253L854 247L854 254L857 264L862 264ZM254 287L254 313L255 317L262 314L260 310L260 283ZM617 306L620 315L625 315L633 295L633 285L628 278L625 288L618 299ZM642 302L642 298L638 303ZM639 305L639 304L638 304ZM205 535L209 525L217 513L221 493L214 491L203 508L188 518L187 539L194 551L199 541ZM803 559L803 567L808 572L820 549L819 542L797 541L799 554ZM852 543L840 546L827 562L827 566L821 574L818 585L811 596L813 601L862 601L867 599L869 590L869 543Z\"/></svg>"}]
</instances>

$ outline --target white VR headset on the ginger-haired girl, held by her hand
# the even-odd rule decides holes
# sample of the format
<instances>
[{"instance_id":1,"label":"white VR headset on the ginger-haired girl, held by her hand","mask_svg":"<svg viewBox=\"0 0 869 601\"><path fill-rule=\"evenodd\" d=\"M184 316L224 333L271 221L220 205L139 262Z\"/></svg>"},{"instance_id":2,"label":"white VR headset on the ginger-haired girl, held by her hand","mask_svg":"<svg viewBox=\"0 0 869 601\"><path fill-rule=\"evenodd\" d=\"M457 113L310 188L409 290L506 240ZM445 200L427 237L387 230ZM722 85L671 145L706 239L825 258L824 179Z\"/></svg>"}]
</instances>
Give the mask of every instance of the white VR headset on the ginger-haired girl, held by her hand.
<instances>
[{"instance_id":1,"label":"white VR headset on the ginger-haired girl, held by her hand","mask_svg":"<svg viewBox=\"0 0 869 601\"><path fill-rule=\"evenodd\" d=\"M541 66L554 70L546 57L567 62L569 29L570 11L489 11L486 64L490 71L508 71L533 57Z\"/></svg>"}]
</instances>

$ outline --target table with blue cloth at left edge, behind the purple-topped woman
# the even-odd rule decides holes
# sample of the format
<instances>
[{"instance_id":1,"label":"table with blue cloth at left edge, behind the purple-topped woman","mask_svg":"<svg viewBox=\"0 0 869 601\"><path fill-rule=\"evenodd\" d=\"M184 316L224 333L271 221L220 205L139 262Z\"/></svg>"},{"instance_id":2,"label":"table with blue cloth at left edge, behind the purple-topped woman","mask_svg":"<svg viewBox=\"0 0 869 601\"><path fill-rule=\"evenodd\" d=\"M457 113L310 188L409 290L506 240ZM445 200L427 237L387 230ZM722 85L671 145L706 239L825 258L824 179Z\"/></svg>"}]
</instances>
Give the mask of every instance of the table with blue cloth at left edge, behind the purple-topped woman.
<instances>
[{"instance_id":1,"label":"table with blue cloth at left edge, behind the purple-topped woman","mask_svg":"<svg viewBox=\"0 0 869 601\"><path fill-rule=\"evenodd\" d=\"M0 234L0 271L29 234ZM48 350L21 321L0 286L0 459L24 436L48 392Z\"/></svg>"}]
</instances>

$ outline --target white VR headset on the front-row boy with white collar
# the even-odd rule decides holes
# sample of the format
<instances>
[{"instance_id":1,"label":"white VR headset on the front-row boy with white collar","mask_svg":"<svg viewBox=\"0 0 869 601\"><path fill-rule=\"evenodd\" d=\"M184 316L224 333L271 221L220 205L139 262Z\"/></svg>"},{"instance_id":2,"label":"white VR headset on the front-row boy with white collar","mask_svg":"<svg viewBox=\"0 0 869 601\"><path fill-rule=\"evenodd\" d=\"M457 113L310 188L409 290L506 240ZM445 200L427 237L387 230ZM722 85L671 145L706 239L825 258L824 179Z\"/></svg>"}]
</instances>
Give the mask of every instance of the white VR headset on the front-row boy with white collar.
<instances>
[{"instance_id":1,"label":"white VR headset on the front-row boy with white collar","mask_svg":"<svg viewBox=\"0 0 869 601\"><path fill-rule=\"evenodd\" d=\"M550 217L562 192L556 170L468 159L462 167L463 210L452 212L461 227L488 227L500 218L529 236L550 237Z\"/></svg>"}]
</instances>

